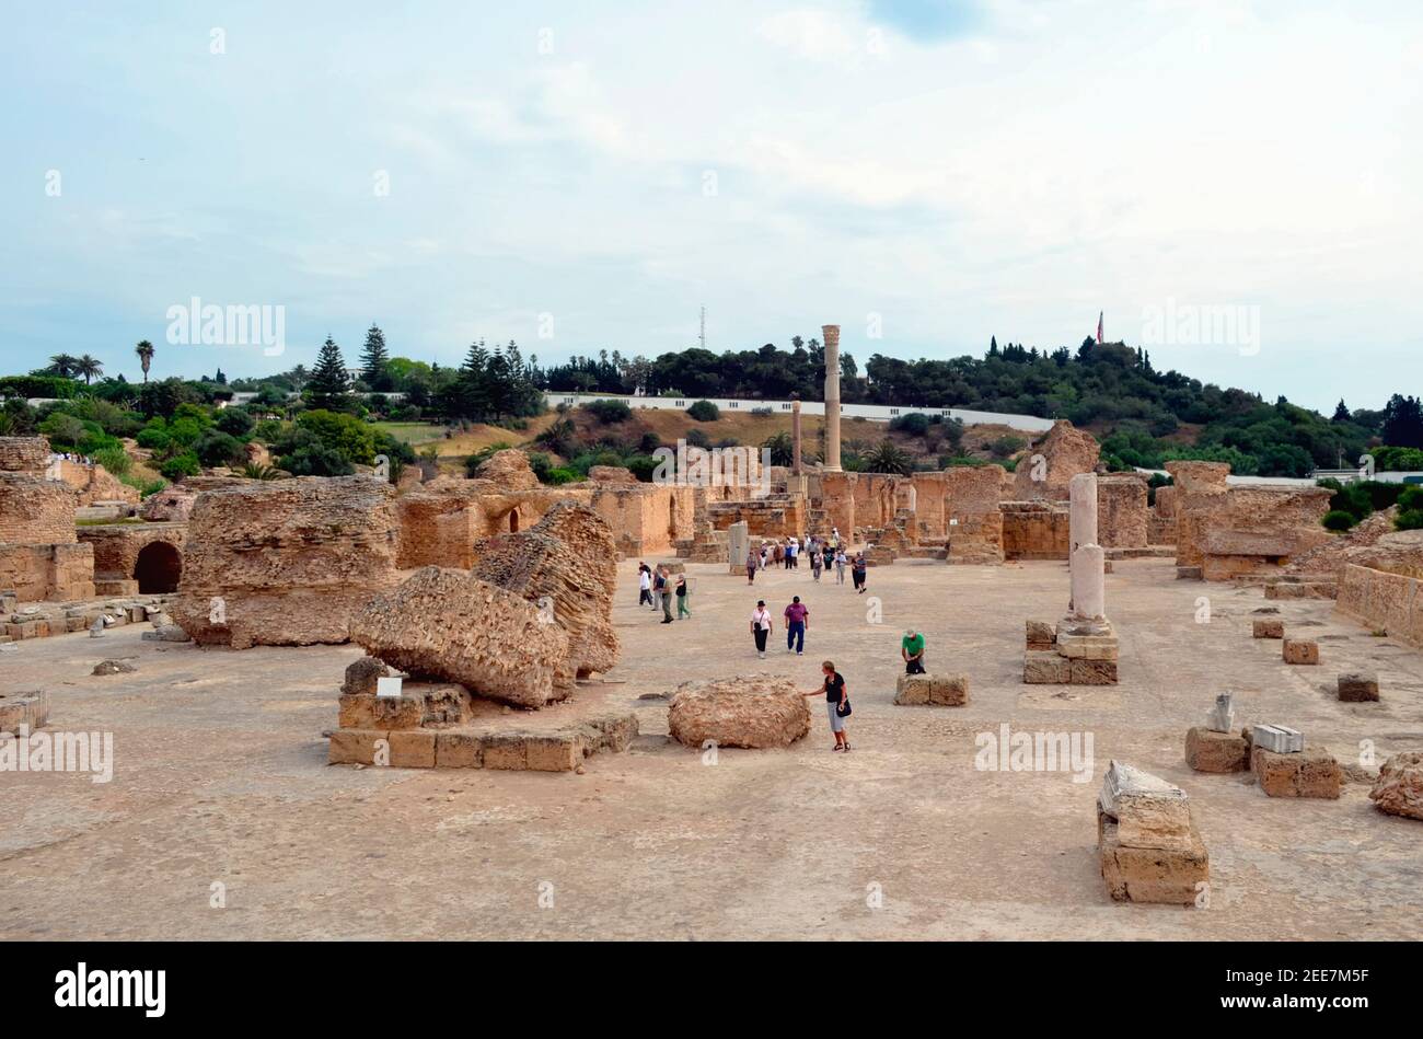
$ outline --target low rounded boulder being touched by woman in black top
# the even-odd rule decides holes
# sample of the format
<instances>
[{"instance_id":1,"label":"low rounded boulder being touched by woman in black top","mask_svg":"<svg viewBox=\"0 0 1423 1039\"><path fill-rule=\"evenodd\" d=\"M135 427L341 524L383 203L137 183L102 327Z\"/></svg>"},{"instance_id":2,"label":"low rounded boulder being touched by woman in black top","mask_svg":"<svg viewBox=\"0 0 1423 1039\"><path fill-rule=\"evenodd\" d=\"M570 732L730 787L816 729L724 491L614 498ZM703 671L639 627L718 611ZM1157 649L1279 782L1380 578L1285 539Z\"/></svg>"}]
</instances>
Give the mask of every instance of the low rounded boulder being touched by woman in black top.
<instances>
[{"instance_id":1,"label":"low rounded boulder being touched by woman in black top","mask_svg":"<svg viewBox=\"0 0 1423 1039\"><path fill-rule=\"evenodd\" d=\"M788 747L810 732L810 706L790 679L751 675L677 686L672 739L689 747Z\"/></svg>"}]
</instances>

